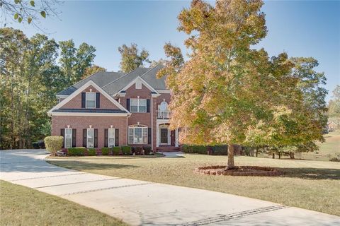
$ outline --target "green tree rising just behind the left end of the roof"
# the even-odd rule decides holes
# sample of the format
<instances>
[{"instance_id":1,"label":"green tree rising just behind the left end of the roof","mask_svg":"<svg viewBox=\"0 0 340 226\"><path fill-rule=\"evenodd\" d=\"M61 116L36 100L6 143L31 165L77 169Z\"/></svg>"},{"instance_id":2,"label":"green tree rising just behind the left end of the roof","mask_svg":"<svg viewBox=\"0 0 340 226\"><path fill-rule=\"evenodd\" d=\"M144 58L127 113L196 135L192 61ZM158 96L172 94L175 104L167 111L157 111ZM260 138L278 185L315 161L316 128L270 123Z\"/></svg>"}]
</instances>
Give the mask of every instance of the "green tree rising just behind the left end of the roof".
<instances>
[{"instance_id":1,"label":"green tree rising just behind the left end of the roof","mask_svg":"<svg viewBox=\"0 0 340 226\"><path fill-rule=\"evenodd\" d=\"M96 55L96 48L81 43L77 49L73 40L59 42L60 44L60 69L64 73L64 87L68 87L83 78L87 68L89 68Z\"/></svg>"}]
</instances>

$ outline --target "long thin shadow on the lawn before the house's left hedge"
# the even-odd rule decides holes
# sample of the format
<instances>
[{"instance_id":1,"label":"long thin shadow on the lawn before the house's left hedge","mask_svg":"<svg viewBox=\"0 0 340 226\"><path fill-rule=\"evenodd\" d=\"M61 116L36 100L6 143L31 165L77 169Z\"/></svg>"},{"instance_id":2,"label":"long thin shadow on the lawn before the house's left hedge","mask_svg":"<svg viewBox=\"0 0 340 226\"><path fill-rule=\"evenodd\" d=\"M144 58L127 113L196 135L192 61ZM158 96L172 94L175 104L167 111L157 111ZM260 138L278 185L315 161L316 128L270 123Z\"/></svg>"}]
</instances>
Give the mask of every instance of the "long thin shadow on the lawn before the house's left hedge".
<instances>
[{"instance_id":1,"label":"long thin shadow on the lawn before the house's left hedge","mask_svg":"<svg viewBox=\"0 0 340 226\"><path fill-rule=\"evenodd\" d=\"M136 165L124 165L124 164L109 164L109 163L96 163L96 162L84 162L84 161L47 161L52 165L64 167L74 170L106 170L106 169L123 169L123 168L137 168Z\"/></svg>"}]
</instances>

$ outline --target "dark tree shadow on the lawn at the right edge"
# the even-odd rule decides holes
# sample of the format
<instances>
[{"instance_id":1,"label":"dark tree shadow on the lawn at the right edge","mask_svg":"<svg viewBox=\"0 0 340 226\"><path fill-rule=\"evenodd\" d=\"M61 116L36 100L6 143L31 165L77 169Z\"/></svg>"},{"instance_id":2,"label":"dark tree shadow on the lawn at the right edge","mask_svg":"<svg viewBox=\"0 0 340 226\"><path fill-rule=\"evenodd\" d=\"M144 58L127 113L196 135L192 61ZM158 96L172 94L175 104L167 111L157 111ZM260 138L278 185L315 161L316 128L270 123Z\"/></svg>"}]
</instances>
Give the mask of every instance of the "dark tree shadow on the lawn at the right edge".
<instances>
[{"instance_id":1,"label":"dark tree shadow on the lawn at the right edge","mask_svg":"<svg viewBox=\"0 0 340 226\"><path fill-rule=\"evenodd\" d=\"M338 179L340 180L340 169L322 168L276 168L285 172L280 177L296 177L301 179Z\"/></svg>"}]
</instances>

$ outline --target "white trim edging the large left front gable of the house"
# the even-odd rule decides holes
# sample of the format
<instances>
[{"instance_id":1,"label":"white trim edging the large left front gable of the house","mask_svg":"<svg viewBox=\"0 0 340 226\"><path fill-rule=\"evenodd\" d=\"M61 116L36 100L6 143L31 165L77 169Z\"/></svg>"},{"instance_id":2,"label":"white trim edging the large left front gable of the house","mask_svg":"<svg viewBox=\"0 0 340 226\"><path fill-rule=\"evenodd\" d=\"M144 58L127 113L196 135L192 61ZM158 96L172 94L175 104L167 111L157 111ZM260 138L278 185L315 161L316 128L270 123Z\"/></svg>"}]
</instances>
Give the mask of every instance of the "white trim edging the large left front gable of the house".
<instances>
[{"instance_id":1,"label":"white trim edging the large left front gable of the house","mask_svg":"<svg viewBox=\"0 0 340 226\"><path fill-rule=\"evenodd\" d=\"M60 107L64 106L67 102L72 100L75 96L79 95L79 93L81 93L83 90L88 88L90 85L92 85L99 93L103 94L104 97L108 98L108 100L110 100L119 109L121 109L122 111L125 111L127 113L130 113L127 109L125 109L125 107L120 105L120 103L118 103L117 100L113 99L113 97L111 97L111 95L106 93L106 91L104 91L102 88L100 88L96 83L94 83L94 81L90 80L87 83L85 83L83 86L81 86L81 88L79 88L78 90L75 90L71 95L69 95L67 98L62 100L59 104L55 105L55 107L52 107L52 109L50 109L50 111L48 111L47 114L52 115L52 113L53 114L57 113L57 112L52 112L52 111L55 110L55 109L60 109ZM94 113L88 113L88 114L94 115Z\"/></svg>"}]
</instances>

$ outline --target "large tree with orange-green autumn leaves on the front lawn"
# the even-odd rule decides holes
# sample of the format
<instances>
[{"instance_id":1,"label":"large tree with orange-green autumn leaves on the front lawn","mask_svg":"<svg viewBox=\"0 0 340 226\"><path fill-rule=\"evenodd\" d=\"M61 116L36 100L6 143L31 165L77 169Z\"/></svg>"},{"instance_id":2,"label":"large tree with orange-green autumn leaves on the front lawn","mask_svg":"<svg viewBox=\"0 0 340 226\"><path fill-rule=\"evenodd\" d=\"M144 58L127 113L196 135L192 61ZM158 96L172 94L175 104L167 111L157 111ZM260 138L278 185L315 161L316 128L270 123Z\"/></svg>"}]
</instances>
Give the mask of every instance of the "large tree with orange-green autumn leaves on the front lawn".
<instances>
[{"instance_id":1,"label":"large tree with orange-green autumn leaves on the front lawn","mask_svg":"<svg viewBox=\"0 0 340 226\"><path fill-rule=\"evenodd\" d=\"M192 1L179 14L192 53L183 63L179 48L166 44L171 59L158 74L167 75L170 124L182 128L181 142L227 143L227 169L234 168L234 144L292 145L305 141L302 134L311 127L287 54L269 58L264 49L251 49L266 36L262 5Z\"/></svg>"}]
</instances>

